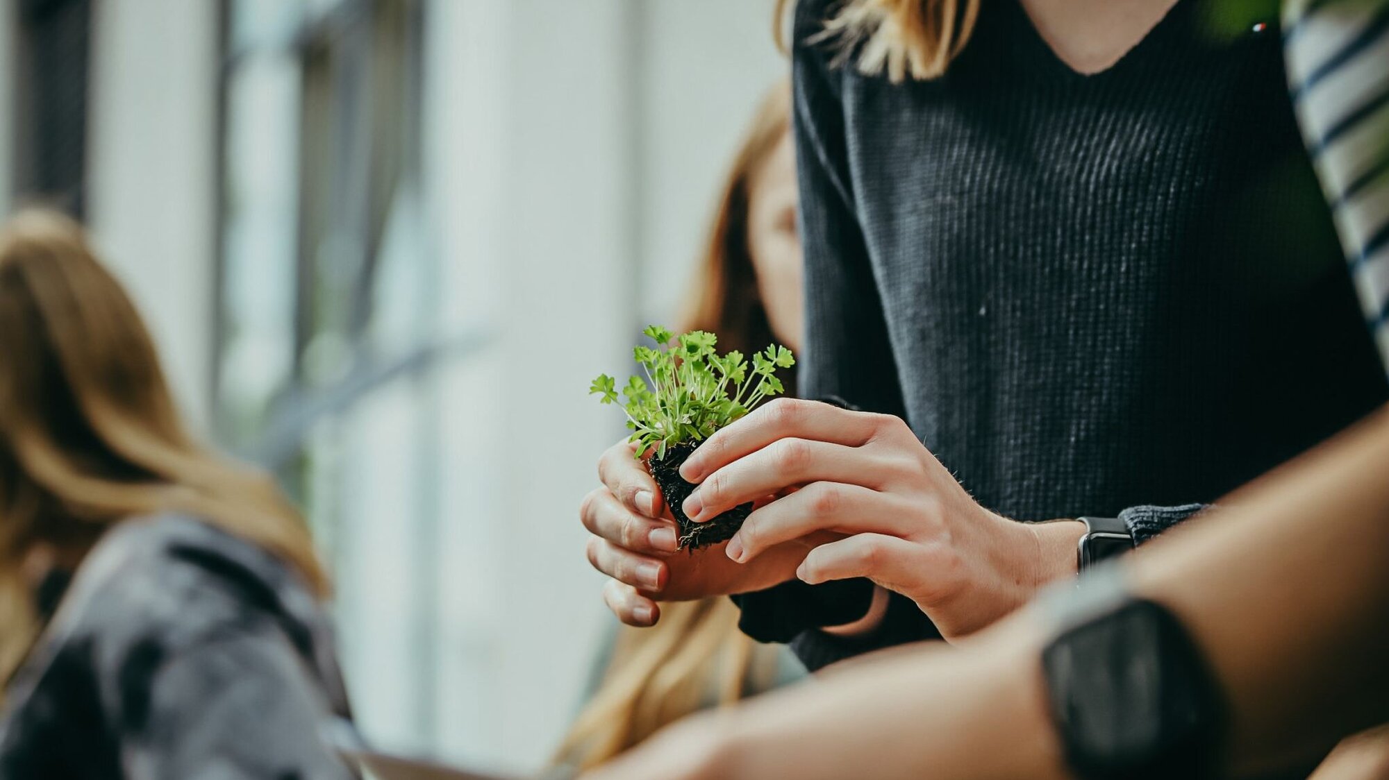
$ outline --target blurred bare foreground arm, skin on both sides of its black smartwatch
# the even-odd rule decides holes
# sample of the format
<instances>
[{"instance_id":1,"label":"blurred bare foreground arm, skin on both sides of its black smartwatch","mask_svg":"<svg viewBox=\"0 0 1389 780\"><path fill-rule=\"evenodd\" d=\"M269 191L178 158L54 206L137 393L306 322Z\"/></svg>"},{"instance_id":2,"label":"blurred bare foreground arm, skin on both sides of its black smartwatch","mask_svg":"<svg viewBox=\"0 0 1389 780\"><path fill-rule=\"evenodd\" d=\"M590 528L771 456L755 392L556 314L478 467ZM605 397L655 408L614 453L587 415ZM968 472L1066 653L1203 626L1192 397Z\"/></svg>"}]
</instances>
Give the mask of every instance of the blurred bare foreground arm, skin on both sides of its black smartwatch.
<instances>
[{"instance_id":1,"label":"blurred bare foreground arm, skin on both sides of its black smartwatch","mask_svg":"<svg viewBox=\"0 0 1389 780\"><path fill-rule=\"evenodd\" d=\"M1386 469L1381 412L1129 562L1135 591L1176 612L1217 670L1239 774L1389 722ZM1038 665L1049 636L1026 609L961 650L893 654L676 727L601 777L1063 777Z\"/></svg>"}]
</instances>

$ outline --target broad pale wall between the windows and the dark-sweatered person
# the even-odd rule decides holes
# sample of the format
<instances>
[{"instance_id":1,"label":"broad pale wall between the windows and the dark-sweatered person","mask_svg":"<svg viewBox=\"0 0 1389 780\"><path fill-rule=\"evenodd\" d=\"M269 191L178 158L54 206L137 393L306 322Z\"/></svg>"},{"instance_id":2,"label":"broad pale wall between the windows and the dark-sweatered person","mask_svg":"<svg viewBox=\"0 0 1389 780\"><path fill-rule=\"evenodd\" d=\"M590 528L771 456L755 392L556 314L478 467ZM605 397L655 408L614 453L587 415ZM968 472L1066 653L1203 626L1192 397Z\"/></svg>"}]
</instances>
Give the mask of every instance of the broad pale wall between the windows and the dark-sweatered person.
<instances>
[{"instance_id":1,"label":"broad pale wall between the windows and the dark-sweatered person","mask_svg":"<svg viewBox=\"0 0 1389 780\"><path fill-rule=\"evenodd\" d=\"M500 337L444 386L446 461L468 464L440 518L436 744L454 758L538 766L579 704L611 623L578 504L621 434L588 383L628 366L643 319L672 318L728 158L785 71L771 6L431 6L446 329L482 321Z\"/></svg>"}]
</instances>

